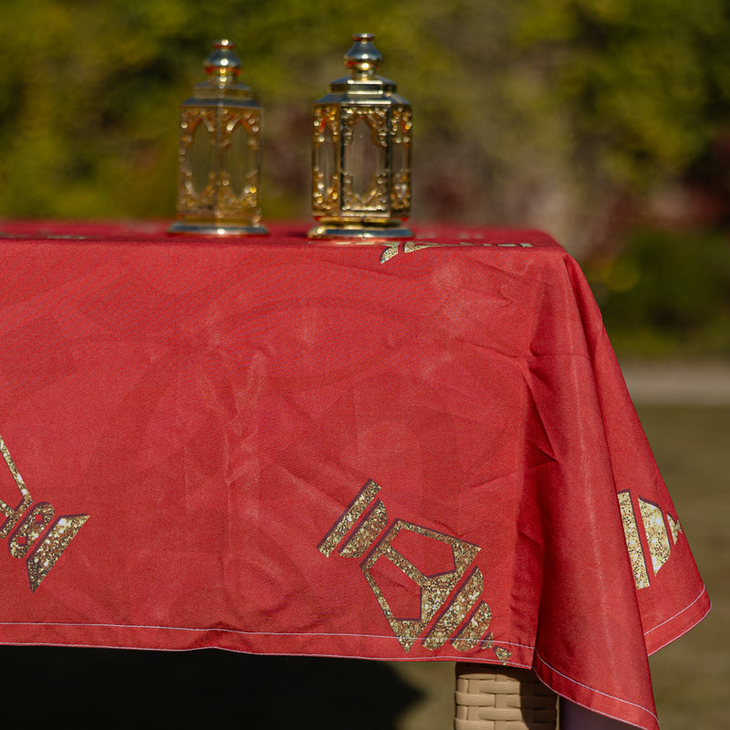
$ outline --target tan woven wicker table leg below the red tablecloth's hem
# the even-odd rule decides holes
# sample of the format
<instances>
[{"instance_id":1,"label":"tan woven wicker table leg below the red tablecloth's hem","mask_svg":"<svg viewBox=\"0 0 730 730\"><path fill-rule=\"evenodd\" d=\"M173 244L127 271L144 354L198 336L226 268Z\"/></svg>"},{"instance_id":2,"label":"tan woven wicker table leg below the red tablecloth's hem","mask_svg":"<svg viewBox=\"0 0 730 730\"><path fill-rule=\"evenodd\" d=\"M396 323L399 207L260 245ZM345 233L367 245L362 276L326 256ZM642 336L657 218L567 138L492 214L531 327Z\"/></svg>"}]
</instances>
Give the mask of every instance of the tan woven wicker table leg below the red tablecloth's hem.
<instances>
[{"instance_id":1,"label":"tan woven wicker table leg below the red tablecloth's hem","mask_svg":"<svg viewBox=\"0 0 730 730\"><path fill-rule=\"evenodd\" d=\"M532 670L457 662L454 730L555 730L557 699Z\"/></svg>"}]
</instances>

